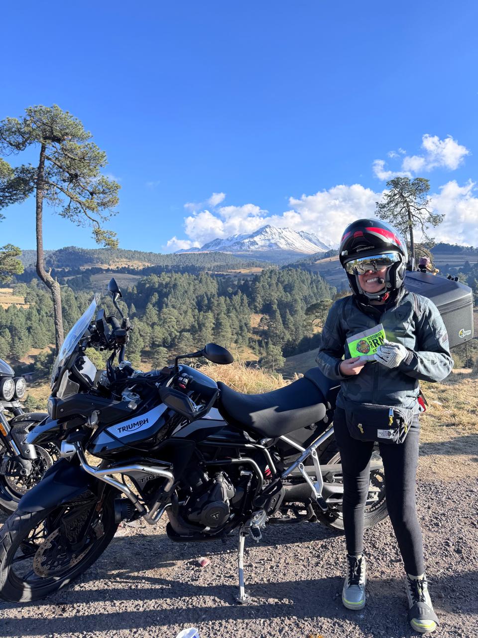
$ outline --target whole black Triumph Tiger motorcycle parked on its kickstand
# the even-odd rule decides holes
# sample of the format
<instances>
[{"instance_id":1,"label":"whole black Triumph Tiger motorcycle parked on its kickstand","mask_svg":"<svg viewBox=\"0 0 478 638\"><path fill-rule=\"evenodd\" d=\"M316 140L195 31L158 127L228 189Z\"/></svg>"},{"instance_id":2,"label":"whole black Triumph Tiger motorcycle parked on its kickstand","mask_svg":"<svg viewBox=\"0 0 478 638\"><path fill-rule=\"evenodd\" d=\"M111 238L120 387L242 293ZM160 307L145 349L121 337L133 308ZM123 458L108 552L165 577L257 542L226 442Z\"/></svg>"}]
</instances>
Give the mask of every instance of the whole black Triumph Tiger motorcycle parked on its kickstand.
<instances>
[{"instance_id":1,"label":"whole black Triumph Tiger motorcycle parked on its kickstand","mask_svg":"<svg viewBox=\"0 0 478 638\"><path fill-rule=\"evenodd\" d=\"M28 445L61 441L61 459L22 498L0 530L0 593L36 600L82 574L121 521L168 517L175 542L245 538L266 524L319 521L343 530L342 468L332 417L338 386L318 368L286 387L241 394L180 359L229 364L214 343L143 373L124 359L129 318L105 316L94 299L70 330L51 380L48 419ZM110 350L98 371L88 347ZM117 364L115 364L117 358ZM365 525L387 514L383 466L370 464Z\"/></svg>"}]
</instances>

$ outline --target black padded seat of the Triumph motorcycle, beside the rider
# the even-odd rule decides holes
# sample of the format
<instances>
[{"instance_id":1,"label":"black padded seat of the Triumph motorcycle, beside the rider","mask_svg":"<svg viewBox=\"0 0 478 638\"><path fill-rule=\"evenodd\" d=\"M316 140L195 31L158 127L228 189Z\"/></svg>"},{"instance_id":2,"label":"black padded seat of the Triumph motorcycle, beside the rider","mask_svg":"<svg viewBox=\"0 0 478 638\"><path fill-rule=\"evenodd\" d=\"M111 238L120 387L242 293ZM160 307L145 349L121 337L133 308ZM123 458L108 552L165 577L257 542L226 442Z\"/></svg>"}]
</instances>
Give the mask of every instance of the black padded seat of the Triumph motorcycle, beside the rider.
<instances>
[{"instance_id":1,"label":"black padded seat of the Triumph motorcycle, beside the rider","mask_svg":"<svg viewBox=\"0 0 478 638\"><path fill-rule=\"evenodd\" d=\"M222 382L218 408L232 426L277 438L301 427L321 421L326 415L322 392L308 378L300 378L279 390L263 394L242 394Z\"/></svg>"}]
</instances>

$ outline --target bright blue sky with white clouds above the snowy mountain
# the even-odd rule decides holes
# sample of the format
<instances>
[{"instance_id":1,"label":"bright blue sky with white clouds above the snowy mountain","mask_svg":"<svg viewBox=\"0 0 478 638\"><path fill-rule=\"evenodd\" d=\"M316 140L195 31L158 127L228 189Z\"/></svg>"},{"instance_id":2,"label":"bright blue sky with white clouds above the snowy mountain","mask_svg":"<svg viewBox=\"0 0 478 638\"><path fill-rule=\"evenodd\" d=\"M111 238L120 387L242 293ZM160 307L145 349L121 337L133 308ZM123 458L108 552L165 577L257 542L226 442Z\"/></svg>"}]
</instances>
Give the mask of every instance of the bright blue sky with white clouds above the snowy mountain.
<instances>
[{"instance_id":1,"label":"bright blue sky with white clouds above the snowy mountain","mask_svg":"<svg viewBox=\"0 0 478 638\"><path fill-rule=\"evenodd\" d=\"M82 120L122 186L122 248L265 223L333 244L396 172L430 179L435 237L478 245L473 0L10 1L2 21L0 119ZM33 200L3 212L0 245L34 248ZM49 211L44 244L95 245Z\"/></svg>"}]
</instances>

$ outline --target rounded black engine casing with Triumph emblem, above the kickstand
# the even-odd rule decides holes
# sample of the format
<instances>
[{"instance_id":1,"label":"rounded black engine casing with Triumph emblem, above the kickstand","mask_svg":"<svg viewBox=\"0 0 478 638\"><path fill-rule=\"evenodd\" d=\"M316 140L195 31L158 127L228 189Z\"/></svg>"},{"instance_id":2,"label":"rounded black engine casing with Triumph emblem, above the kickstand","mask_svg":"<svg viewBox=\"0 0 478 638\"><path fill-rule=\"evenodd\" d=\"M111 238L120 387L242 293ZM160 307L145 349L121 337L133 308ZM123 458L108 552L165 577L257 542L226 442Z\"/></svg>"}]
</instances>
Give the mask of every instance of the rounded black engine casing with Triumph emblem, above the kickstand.
<instances>
[{"instance_id":1,"label":"rounded black engine casing with Triumph emblem, above the kickstand","mask_svg":"<svg viewBox=\"0 0 478 638\"><path fill-rule=\"evenodd\" d=\"M236 491L228 477L218 472L201 491L192 494L189 501L191 511L187 512L187 520L205 527L220 527L231 514L229 500L235 494Z\"/></svg>"}]
</instances>

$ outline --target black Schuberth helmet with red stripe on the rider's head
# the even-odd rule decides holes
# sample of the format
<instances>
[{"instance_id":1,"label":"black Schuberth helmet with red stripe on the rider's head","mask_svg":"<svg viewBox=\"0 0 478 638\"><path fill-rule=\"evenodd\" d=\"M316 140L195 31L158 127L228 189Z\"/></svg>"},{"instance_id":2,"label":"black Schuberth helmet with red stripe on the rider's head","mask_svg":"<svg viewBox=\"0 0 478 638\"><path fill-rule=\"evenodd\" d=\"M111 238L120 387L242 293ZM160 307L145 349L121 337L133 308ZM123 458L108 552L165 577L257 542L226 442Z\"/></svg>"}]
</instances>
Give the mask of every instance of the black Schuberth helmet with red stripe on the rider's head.
<instances>
[{"instance_id":1,"label":"black Schuberth helmet with red stripe on the rider's head","mask_svg":"<svg viewBox=\"0 0 478 638\"><path fill-rule=\"evenodd\" d=\"M364 257L389 256L391 265L387 269L382 290L376 293L365 292L360 286L358 271L354 269L355 260ZM392 292L400 290L407 271L409 254L407 244L400 233L380 219L357 219L347 226L340 240L338 258L345 272L354 295L368 303L371 299L387 299ZM382 260L386 262L386 259ZM354 262L354 263L352 263Z\"/></svg>"}]
</instances>

